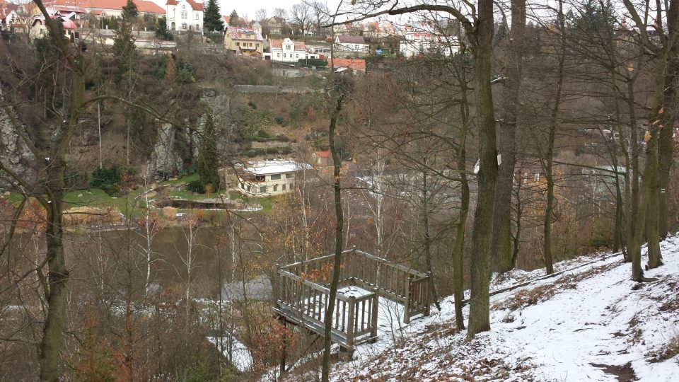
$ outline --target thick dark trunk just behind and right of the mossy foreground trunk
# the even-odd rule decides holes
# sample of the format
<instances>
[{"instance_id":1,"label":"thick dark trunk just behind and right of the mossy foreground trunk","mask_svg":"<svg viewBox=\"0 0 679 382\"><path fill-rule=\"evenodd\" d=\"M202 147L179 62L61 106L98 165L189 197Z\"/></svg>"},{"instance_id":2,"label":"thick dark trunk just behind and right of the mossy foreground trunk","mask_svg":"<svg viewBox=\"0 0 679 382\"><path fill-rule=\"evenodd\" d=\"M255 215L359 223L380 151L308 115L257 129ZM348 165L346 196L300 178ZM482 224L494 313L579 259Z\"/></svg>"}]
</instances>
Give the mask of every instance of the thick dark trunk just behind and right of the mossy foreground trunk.
<instances>
[{"instance_id":1,"label":"thick dark trunk just behind and right of the mossy foreground trunk","mask_svg":"<svg viewBox=\"0 0 679 382\"><path fill-rule=\"evenodd\" d=\"M511 0L509 62L506 88L502 98L504 115L500 119L501 164L495 194L495 215L490 253L495 270L506 272L514 267L511 250L511 189L516 165L516 125L521 105L523 36L526 32L526 0Z\"/></svg>"}]
</instances>

